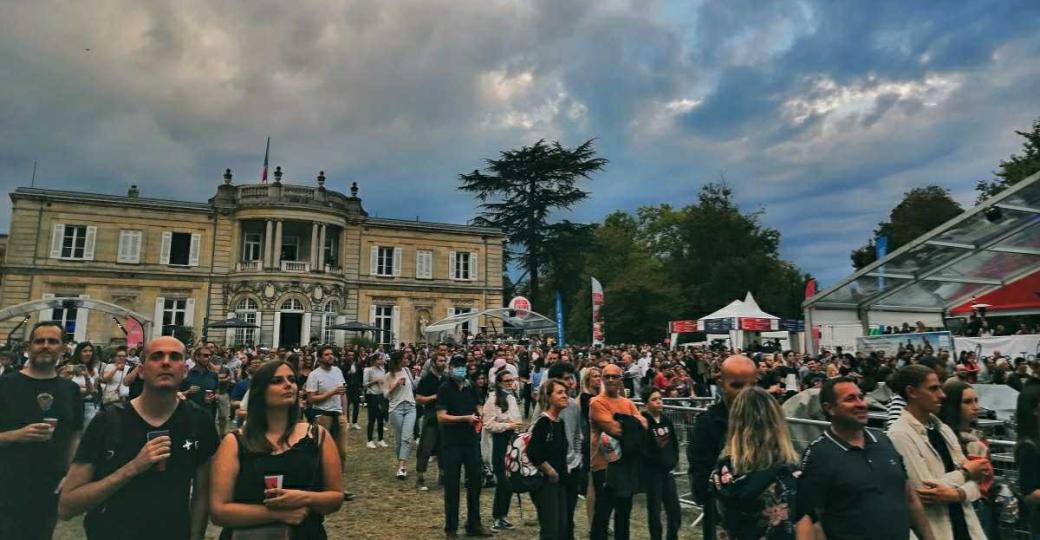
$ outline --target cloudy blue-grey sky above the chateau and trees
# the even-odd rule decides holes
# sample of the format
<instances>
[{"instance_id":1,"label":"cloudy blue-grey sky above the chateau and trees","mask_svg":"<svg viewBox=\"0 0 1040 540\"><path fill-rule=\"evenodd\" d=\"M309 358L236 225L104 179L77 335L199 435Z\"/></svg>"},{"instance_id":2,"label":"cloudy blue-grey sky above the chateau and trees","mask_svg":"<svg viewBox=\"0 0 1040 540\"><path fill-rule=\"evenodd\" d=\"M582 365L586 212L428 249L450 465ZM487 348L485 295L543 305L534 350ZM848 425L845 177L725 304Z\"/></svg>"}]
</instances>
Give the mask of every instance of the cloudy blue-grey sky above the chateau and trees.
<instances>
[{"instance_id":1,"label":"cloudy blue-grey sky above the chateau and trees","mask_svg":"<svg viewBox=\"0 0 1040 540\"><path fill-rule=\"evenodd\" d=\"M1040 3L139 0L0 4L0 187L205 200L357 181L371 214L463 223L458 174L598 137L568 214L725 175L824 284L911 187L970 203L1040 117ZM0 230L9 223L0 206Z\"/></svg>"}]
</instances>

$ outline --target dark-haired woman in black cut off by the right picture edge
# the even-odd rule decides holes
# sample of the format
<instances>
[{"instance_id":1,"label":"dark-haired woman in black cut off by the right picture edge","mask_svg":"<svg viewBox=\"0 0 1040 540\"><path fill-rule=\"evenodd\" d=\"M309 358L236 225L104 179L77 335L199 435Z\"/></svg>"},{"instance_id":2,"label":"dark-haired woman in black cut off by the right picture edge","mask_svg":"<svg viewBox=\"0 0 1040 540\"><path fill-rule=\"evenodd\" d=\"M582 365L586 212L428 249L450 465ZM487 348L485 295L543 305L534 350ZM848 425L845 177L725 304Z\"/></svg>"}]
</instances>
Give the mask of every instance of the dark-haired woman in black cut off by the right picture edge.
<instances>
[{"instance_id":1,"label":"dark-haired woman in black cut off by the right picture edge","mask_svg":"<svg viewBox=\"0 0 1040 540\"><path fill-rule=\"evenodd\" d=\"M1015 407L1018 443L1018 490L1029 515L1032 538L1040 538L1040 384L1022 386Z\"/></svg>"}]
</instances>

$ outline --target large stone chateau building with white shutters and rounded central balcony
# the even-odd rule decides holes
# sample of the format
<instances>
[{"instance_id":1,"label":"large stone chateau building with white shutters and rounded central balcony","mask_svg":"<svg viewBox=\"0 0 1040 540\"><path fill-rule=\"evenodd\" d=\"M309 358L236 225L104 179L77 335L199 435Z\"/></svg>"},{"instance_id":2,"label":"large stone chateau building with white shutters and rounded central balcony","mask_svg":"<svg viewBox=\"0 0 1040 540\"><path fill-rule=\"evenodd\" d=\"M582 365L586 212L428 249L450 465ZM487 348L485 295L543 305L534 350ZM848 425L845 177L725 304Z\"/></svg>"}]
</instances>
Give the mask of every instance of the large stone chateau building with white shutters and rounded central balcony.
<instances>
[{"instance_id":1,"label":"large stone chateau building with white shutters and rounded central balcony","mask_svg":"<svg viewBox=\"0 0 1040 540\"><path fill-rule=\"evenodd\" d=\"M356 183L349 195L326 189L323 173L313 186L281 180L279 168L271 183L234 184L228 171L205 203L135 186L125 197L20 187L0 246L0 306L103 300L151 318L153 336L186 326L202 337L207 320L237 315L260 328L209 339L292 346L342 343L354 334L330 327L347 320L416 342L430 323L502 305L500 231L371 217ZM124 339L102 312L47 309L29 324L40 318L60 320L70 339ZM0 322L2 335L19 322Z\"/></svg>"}]
</instances>

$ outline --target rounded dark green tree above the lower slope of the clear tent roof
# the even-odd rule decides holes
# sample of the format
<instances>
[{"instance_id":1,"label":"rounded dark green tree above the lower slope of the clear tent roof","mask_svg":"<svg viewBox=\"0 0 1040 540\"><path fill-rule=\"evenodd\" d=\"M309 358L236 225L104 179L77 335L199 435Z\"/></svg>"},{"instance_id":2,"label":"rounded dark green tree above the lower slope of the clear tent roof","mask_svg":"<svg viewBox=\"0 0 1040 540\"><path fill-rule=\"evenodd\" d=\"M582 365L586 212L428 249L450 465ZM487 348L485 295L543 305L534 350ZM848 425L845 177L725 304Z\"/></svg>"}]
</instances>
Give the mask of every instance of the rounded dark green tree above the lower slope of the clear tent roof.
<instances>
[{"instance_id":1,"label":"rounded dark green tree above the lower slope of the clear tent roof","mask_svg":"<svg viewBox=\"0 0 1040 540\"><path fill-rule=\"evenodd\" d=\"M881 236L888 237L888 253L891 253L963 211L943 187L929 185L907 191L892 208L888 221L878 224L866 245L853 250L853 267L860 269L877 260L876 247Z\"/></svg>"}]
</instances>

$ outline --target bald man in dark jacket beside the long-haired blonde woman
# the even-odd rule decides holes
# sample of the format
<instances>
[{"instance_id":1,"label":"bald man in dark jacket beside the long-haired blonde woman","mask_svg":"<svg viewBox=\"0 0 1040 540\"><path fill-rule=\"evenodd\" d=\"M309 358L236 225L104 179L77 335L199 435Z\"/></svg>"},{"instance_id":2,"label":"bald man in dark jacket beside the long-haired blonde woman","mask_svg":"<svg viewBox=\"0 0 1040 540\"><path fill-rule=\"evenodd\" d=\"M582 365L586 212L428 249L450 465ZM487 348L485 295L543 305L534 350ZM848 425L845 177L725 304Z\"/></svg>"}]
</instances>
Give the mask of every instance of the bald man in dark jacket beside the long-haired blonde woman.
<instances>
[{"instance_id":1,"label":"bald man in dark jacket beside the long-haired blonde woman","mask_svg":"<svg viewBox=\"0 0 1040 540\"><path fill-rule=\"evenodd\" d=\"M754 386L758 380L755 362L744 355L733 355L722 363L719 384L723 400L697 417L686 459L690 461L690 484L694 499L704 508L701 525L704 540L714 539L714 502L708 489L708 477L719 461L719 454L726 442L729 427L729 404L733 403L740 390Z\"/></svg>"}]
</instances>

